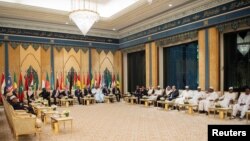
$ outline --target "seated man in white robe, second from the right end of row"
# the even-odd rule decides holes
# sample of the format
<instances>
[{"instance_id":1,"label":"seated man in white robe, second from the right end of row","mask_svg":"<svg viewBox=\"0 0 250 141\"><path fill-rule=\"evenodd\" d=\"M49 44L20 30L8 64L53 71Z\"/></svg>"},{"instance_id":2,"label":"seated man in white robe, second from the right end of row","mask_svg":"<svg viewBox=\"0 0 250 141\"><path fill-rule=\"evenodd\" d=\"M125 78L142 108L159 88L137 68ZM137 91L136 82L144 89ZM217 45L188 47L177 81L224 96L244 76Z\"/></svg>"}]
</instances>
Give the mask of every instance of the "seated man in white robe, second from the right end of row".
<instances>
[{"instance_id":1,"label":"seated man in white robe, second from the right end of row","mask_svg":"<svg viewBox=\"0 0 250 141\"><path fill-rule=\"evenodd\" d=\"M228 108L230 101L236 100L237 93L233 92L233 87L229 87L229 92L225 92L223 96L219 98L218 103L223 108Z\"/></svg>"}]
</instances>

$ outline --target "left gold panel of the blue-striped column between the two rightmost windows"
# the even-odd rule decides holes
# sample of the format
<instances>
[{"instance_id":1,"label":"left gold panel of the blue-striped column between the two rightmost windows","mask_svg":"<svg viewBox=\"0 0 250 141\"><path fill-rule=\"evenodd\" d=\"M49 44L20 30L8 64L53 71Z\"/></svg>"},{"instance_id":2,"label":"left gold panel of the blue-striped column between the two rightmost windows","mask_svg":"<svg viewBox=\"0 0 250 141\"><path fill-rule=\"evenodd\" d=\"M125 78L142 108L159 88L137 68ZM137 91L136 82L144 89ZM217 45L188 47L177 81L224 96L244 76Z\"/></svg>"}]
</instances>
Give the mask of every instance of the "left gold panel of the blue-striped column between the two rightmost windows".
<instances>
[{"instance_id":1,"label":"left gold panel of the blue-striped column between the two rightmost windows","mask_svg":"<svg viewBox=\"0 0 250 141\"><path fill-rule=\"evenodd\" d=\"M199 44L199 86L205 90L205 30L198 32Z\"/></svg>"}]
</instances>

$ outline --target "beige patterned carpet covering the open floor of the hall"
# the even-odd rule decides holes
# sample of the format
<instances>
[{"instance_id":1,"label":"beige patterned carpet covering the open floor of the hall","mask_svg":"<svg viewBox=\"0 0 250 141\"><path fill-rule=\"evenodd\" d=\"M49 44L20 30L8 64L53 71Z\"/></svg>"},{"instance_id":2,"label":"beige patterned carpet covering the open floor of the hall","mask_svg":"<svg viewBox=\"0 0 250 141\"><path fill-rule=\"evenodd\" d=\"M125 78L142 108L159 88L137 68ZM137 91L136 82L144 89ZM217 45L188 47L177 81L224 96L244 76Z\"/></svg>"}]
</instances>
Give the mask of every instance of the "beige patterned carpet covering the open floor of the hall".
<instances>
[{"instance_id":1,"label":"beige patterned carpet covering the open floor of the hall","mask_svg":"<svg viewBox=\"0 0 250 141\"><path fill-rule=\"evenodd\" d=\"M59 108L59 111L65 108ZM73 120L52 132L50 124L43 125L40 136L20 136L20 141L205 141L208 124L246 124L246 121L220 120L204 114L188 115L184 111L164 111L155 107L127 103L74 105L68 108ZM21 122L21 121L20 121ZM12 141L3 108L0 108L0 140Z\"/></svg>"}]
</instances>

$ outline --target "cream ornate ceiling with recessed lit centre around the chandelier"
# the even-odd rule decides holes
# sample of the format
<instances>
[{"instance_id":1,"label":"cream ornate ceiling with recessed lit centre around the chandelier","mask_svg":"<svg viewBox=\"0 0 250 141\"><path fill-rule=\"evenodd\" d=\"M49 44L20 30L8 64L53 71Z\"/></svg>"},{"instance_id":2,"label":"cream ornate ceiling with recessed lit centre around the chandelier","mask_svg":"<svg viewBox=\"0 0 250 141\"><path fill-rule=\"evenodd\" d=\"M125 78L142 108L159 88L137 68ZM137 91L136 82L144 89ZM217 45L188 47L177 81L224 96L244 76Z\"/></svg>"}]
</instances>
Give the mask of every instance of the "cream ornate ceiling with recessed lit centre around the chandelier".
<instances>
[{"instance_id":1,"label":"cream ornate ceiling with recessed lit centre around the chandelier","mask_svg":"<svg viewBox=\"0 0 250 141\"><path fill-rule=\"evenodd\" d=\"M67 10L10 1L15 0L0 0L0 26L2 27L81 34L69 21ZM118 0L98 1L100 7L106 5L107 8L113 4L113 7L108 8L116 8L116 12L109 14L110 16L103 16L95 23L88 35L121 38L232 0L153 0L152 4L147 3L147 0L119 0L120 3L117 3ZM117 10L119 6L122 9Z\"/></svg>"}]
</instances>

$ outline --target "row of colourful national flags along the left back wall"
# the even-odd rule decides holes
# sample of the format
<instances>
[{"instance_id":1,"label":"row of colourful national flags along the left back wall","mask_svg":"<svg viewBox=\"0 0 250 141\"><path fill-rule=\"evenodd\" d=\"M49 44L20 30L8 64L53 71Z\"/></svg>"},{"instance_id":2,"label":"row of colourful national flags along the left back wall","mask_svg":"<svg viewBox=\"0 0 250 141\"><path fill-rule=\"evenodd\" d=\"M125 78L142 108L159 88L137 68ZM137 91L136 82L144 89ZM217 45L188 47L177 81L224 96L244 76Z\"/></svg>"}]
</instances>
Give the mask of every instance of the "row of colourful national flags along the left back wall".
<instances>
[{"instance_id":1,"label":"row of colourful national flags along the left back wall","mask_svg":"<svg viewBox=\"0 0 250 141\"><path fill-rule=\"evenodd\" d=\"M54 89L54 79L49 78L48 72L46 72L46 76L42 76L42 84L41 88L46 89ZM13 83L11 76L5 77L4 73L1 76L1 91L0 95L4 93L5 86L13 87L14 89L18 89L18 98L20 101L23 101L24 98L24 91L27 91L29 87L32 87L33 90L37 90L39 86L38 77L34 77L33 73L27 73L24 76L24 84L23 84L23 76L22 73L19 75L19 81L17 82L16 73L14 73ZM52 85L51 85L52 84ZM84 87L108 87L111 88L112 86L120 87L120 79L119 74L111 74L111 73L87 73L82 74L82 76L76 72L68 73L65 77L62 73L56 76L56 87L59 89L76 89L77 87L84 88ZM0 97L1 101L1 97Z\"/></svg>"}]
</instances>

